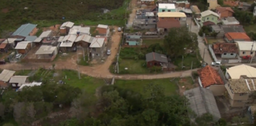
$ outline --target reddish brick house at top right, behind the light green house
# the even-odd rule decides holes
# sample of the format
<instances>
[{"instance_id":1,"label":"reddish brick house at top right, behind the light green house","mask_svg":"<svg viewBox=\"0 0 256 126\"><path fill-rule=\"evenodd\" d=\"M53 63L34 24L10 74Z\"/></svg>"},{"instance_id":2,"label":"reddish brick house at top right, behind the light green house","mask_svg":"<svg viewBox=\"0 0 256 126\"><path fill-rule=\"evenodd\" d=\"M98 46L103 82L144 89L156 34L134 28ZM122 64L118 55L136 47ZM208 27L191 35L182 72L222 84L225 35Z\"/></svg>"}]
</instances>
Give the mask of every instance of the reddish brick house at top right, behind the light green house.
<instances>
[{"instance_id":1,"label":"reddish brick house at top right, behind the light green house","mask_svg":"<svg viewBox=\"0 0 256 126\"><path fill-rule=\"evenodd\" d=\"M216 13L219 14L220 18L233 17L235 13L231 7L216 7Z\"/></svg>"}]
</instances>

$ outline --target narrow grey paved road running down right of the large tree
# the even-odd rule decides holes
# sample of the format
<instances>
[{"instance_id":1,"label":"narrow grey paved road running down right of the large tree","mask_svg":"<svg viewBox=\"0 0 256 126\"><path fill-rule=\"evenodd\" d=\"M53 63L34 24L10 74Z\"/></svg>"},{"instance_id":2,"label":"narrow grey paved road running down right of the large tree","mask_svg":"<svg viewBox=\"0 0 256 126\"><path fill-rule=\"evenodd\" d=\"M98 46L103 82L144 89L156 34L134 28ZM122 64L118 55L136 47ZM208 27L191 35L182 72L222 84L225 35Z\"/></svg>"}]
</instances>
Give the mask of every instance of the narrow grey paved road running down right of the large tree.
<instances>
[{"instance_id":1,"label":"narrow grey paved road running down right of the large tree","mask_svg":"<svg viewBox=\"0 0 256 126\"><path fill-rule=\"evenodd\" d=\"M190 25L191 24L191 18L190 17L186 18L186 22L187 22L187 24ZM191 31L198 35L199 28L196 24L194 24L193 21L192 21L192 24L191 24ZM210 56L209 50L208 50L207 46L205 46L205 43L204 43L203 39L199 35L198 35L198 48L199 48L201 57L204 58L206 63L211 65L211 63L213 62L212 57ZM205 57L204 57L204 52L205 52Z\"/></svg>"}]
</instances>

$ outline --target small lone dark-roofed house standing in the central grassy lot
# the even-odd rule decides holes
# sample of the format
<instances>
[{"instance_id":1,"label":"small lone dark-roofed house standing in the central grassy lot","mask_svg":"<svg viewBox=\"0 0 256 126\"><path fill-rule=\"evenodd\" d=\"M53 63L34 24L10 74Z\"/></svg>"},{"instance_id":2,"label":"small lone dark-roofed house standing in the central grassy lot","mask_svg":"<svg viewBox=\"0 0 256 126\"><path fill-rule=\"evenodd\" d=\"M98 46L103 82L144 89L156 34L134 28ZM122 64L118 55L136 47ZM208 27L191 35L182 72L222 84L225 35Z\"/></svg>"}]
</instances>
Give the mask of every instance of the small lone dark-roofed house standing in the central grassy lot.
<instances>
[{"instance_id":1,"label":"small lone dark-roofed house standing in the central grassy lot","mask_svg":"<svg viewBox=\"0 0 256 126\"><path fill-rule=\"evenodd\" d=\"M168 58L164 54L152 52L146 54L145 57L148 68L151 68L152 66L163 66L168 64Z\"/></svg>"}]
</instances>

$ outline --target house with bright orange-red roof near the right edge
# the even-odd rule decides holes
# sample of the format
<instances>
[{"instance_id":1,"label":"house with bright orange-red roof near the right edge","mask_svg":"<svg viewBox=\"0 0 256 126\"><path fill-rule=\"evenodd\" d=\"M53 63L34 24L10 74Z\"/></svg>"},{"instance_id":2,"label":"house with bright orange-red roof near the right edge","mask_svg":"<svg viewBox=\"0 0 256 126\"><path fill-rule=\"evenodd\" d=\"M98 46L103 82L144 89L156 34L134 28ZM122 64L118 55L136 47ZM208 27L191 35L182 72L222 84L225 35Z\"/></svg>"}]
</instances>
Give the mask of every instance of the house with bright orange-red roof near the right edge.
<instances>
[{"instance_id":1,"label":"house with bright orange-red roof near the right edge","mask_svg":"<svg viewBox=\"0 0 256 126\"><path fill-rule=\"evenodd\" d=\"M250 37L243 32L228 32L225 33L224 40L227 43L235 43L235 41L250 41Z\"/></svg>"}]
</instances>

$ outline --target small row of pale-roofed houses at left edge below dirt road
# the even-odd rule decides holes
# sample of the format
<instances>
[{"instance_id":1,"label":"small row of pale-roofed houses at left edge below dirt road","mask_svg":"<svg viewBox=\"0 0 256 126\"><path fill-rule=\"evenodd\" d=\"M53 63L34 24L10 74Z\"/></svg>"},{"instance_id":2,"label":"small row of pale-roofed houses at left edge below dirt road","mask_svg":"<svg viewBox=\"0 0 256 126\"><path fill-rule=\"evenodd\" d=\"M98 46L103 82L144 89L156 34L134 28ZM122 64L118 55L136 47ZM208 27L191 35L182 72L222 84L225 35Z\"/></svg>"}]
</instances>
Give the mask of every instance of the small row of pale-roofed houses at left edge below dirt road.
<instances>
[{"instance_id":1,"label":"small row of pale-roofed houses at left edge below dirt road","mask_svg":"<svg viewBox=\"0 0 256 126\"><path fill-rule=\"evenodd\" d=\"M28 76L16 76L15 71L4 69L0 73L0 89L12 87L16 91L22 91L24 87L40 86L42 82L29 82Z\"/></svg>"}]
</instances>

